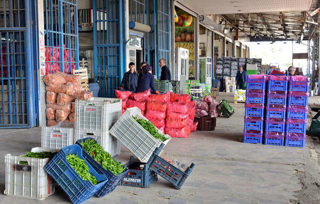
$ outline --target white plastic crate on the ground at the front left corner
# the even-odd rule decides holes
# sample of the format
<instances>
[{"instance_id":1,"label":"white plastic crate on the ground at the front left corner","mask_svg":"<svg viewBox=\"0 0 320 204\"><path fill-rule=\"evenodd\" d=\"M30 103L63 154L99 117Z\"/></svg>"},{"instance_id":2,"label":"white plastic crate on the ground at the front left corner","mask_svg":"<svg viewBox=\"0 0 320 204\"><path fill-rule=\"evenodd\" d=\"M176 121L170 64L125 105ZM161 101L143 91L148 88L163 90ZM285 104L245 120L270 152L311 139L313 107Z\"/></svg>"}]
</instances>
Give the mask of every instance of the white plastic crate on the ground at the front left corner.
<instances>
[{"instance_id":1,"label":"white plastic crate on the ground at the front left corner","mask_svg":"<svg viewBox=\"0 0 320 204\"><path fill-rule=\"evenodd\" d=\"M31 152L58 151L35 147ZM58 191L56 183L44 170L49 158L30 158L6 154L4 194L14 197L44 199ZM28 165L19 164L27 161Z\"/></svg>"}]
</instances>

